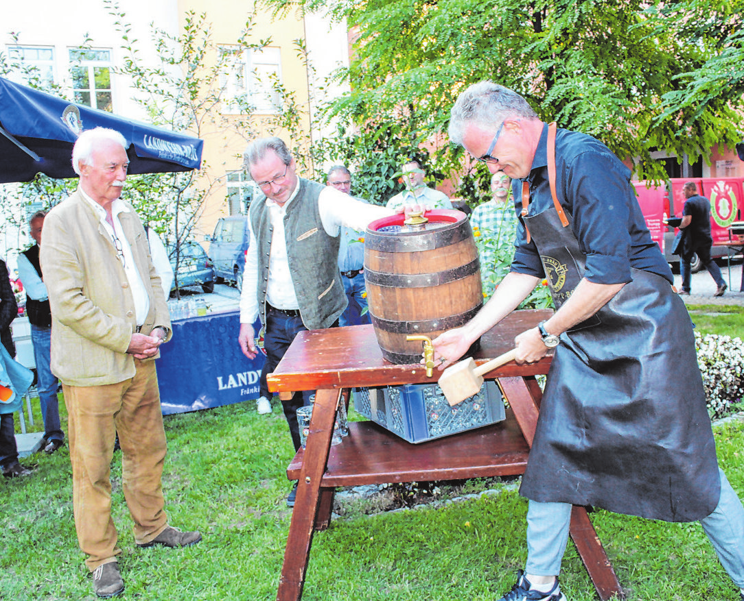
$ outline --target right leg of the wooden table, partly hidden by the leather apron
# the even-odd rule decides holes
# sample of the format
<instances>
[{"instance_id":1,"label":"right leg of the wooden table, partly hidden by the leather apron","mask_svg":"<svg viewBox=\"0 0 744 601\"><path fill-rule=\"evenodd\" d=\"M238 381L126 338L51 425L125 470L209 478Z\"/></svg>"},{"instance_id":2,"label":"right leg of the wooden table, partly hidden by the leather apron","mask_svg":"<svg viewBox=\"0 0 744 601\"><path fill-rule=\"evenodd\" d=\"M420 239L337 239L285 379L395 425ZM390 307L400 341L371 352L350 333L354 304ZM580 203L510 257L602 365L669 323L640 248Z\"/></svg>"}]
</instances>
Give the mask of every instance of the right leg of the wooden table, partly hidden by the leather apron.
<instances>
[{"instance_id":1,"label":"right leg of the wooden table, partly hidden by the leather apron","mask_svg":"<svg viewBox=\"0 0 744 601\"><path fill-rule=\"evenodd\" d=\"M514 417L519 423L519 428L522 429L522 434L525 435L525 440L531 447L535 438L542 392L536 386L536 382L526 382L522 377L499 378L498 386L504 393L504 397L509 401ZM612 569L612 563L610 563L584 507L574 505L573 510L571 510L571 529L569 532L600 599L607 601L613 596L616 599L625 599L618 576Z\"/></svg>"}]
</instances>

